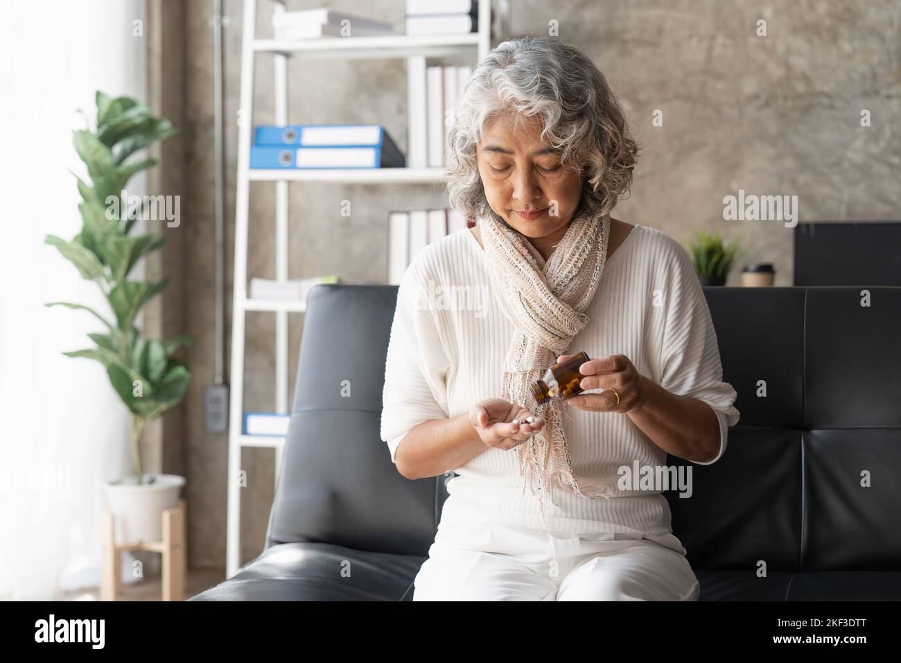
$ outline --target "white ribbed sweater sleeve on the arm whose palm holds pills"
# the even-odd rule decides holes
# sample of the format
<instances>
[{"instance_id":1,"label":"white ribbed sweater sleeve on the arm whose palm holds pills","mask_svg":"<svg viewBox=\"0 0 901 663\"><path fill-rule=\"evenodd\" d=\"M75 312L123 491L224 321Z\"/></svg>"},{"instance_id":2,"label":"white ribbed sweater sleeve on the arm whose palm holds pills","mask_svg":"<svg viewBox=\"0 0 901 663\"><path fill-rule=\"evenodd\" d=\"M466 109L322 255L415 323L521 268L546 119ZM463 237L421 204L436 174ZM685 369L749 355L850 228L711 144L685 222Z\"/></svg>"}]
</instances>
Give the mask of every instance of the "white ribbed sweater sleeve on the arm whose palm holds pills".
<instances>
[{"instance_id":1,"label":"white ribbed sweater sleeve on the arm whose palm holds pills","mask_svg":"<svg viewBox=\"0 0 901 663\"><path fill-rule=\"evenodd\" d=\"M434 311L423 306L425 256L416 258L397 289L385 362L381 438L395 464L397 447L412 428L430 419L448 418L445 377L450 363Z\"/></svg>"}]
</instances>

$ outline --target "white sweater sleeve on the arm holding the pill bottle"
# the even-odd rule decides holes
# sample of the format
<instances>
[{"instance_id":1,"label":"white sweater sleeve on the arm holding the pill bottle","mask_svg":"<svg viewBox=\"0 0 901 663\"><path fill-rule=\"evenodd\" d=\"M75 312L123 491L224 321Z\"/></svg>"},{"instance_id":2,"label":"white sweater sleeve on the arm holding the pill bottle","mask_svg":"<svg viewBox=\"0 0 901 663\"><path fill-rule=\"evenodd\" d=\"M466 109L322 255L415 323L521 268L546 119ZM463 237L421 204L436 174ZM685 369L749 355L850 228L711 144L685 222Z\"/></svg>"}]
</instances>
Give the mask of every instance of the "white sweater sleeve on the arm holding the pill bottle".
<instances>
[{"instance_id":1,"label":"white sweater sleeve on the arm holding the pill bottle","mask_svg":"<svg viewBox=\"0 0 901 663\"><path fill-rule=\"evenodd\" d=\"M716 330L707 299L691 257L678 242L669 239L669 267L663 305L665 324L660 357L660 386L704 401L720 422L720 451L706 463L712 465L726 450L728 428L739 419L733 386L723 382L723 365Z\"/></svg>"}]
</instances>

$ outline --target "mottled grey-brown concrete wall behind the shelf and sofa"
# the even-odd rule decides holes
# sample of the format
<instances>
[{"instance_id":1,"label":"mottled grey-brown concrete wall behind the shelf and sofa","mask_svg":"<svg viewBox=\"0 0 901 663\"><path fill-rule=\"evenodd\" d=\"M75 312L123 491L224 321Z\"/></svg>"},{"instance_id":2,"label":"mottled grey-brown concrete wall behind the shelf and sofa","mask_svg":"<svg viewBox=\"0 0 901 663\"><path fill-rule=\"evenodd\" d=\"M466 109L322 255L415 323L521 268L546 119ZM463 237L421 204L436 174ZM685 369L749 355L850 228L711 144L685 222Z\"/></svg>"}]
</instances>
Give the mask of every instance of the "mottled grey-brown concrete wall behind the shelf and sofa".
<instances>
[{"instance_id":1,"label":"mottled grey-brown concrete wall behind the shelf and sofa","mask_svg":"<svg viewBox=\"0 0 901 663\"><path fill-rule=\"evenodd\" d=\"M321 5L289 2L289 9ZM336 1L337 10L403 20L403 0ZM864 6L865 5L865 6ZM213 380L214 226L211 2L187 5L185 77L187 162L187 331L198 337L186 410L188 541L191 566L223 566L227 439L203 428L203 387ZM232 235L238 108L241 6L226 0L226 339L231 321ZM754 3L743 0L513 2L513 36L546 34L559 22L560 39L583 47L626 103L643 143L631 198L614 216L653 226L687 245L697 229L721 230L742 251L742 264L775 262L776 284L792 282L792 229L774 221L725 222L723 197L798 197L800 220L876 220L901 216L901 5ZM260 2L258 34L268 36L270 3ZM768 36L755 35L756 21ZM270 123L271 57L257 60L254 124ZM289 121L385 124L405 148L405 76L399 60L289 65ZM872 125L860 126L869 109ZM655 109L663 126L651 125ZM274 276L273 192L251 185L250 276ZM352 216L340 214L348 199ZM340 273L346 281L383 281L389 209L443 206L429 186L291 185L290 276ZM841 256L836 256L841 260ZM274 403L272 313L252 313L247 325L245 410ZM292 314L291 384L302 317ZM226 366L230 345L226 344ZM273 453L247 450L243 492L242 561L263 546L273 495Z\"/></svg>"}]
</instances>

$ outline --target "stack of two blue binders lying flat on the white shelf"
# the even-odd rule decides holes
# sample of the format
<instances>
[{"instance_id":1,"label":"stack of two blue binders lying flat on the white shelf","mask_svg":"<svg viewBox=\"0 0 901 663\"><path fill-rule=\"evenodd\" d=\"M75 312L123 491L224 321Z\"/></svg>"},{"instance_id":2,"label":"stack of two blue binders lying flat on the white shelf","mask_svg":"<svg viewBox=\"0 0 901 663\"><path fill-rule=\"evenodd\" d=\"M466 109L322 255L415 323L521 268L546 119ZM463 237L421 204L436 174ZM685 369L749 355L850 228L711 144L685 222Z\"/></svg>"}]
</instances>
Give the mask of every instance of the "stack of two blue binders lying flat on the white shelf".
<instances>
[{"instance_id":1,"label":"stack of two blue binders lying flat on the white shelf","mask_svg":"<svg viewBox=\"0 0 901 663\"><path fill-rule=\"evenodd\" d=\"M250 168L403 168L397 143L378 124L258 126Z\"/></svg>"}]
</instances>

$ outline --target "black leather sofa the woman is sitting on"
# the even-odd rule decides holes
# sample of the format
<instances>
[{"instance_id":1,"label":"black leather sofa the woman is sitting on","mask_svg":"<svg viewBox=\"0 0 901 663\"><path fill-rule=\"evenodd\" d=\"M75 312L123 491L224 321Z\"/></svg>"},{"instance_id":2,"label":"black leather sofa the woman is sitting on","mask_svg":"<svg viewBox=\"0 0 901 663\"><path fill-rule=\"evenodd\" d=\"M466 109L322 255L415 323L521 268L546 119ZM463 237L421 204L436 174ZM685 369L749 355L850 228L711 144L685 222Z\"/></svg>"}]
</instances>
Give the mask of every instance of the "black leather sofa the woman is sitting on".
<instances>
[{"instance_id":1,"label":"black leather sofa the woman is sitting on","mask_svg":"<svg viewBox=\"0 0 901 663\"><path fill-rule=\"evenodd\" d=\"M901 288L704 292L742 417L692 498L666 493L700 599L901 599ZM395 301L311 291L265 549L189 600L412 599L447 493L379 439Z\"/></svg>"}]
</instances>

